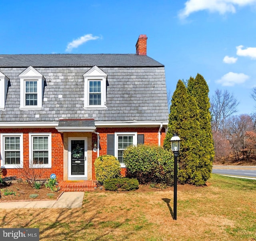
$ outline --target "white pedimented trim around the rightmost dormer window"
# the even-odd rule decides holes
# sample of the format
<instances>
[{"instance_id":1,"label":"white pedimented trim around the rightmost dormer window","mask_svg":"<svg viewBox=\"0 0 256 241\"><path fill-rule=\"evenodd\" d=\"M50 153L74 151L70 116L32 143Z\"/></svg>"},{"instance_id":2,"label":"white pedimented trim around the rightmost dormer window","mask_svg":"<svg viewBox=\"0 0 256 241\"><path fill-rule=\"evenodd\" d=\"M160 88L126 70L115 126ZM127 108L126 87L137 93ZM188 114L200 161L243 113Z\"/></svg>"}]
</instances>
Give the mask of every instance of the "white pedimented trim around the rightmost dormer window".
<instances>
[{"instance_id":1,"label":"white pedimented trim around the rightmost dormer window","mask_svg":"<svg viewBox=\"0 0 256 241\"><path fill-rule=\"evenodd\" d=\"M107 74L96 65L83 74L84 77L84 108L104 109L106 108L106 82ZM101 105L89 105L89 83L90 81L101 82Z\"/></svg>"}]
</instances>

